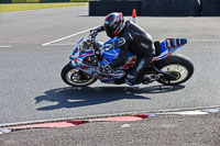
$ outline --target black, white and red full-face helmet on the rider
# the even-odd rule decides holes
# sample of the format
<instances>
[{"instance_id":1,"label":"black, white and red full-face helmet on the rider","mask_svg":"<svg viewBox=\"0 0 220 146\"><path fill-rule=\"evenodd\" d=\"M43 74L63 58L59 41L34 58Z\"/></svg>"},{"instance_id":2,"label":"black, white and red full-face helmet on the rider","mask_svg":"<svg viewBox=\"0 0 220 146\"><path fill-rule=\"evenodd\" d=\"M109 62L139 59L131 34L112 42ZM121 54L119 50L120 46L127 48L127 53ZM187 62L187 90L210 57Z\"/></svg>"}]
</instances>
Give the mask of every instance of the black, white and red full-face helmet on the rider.
<instances>
[{"instance_id":1,"label":"black, white and red full-face helmet on the rider","mask_svg":"<svg viewBox=\"0 0 220 146\"><path fill-rule=\"evenodd\" d=\"M118 35L125 25L123 14L119 12L113 12L107 15L103 22L106 33L109 37L114 37Z\"/></svg>"}]
</instances>

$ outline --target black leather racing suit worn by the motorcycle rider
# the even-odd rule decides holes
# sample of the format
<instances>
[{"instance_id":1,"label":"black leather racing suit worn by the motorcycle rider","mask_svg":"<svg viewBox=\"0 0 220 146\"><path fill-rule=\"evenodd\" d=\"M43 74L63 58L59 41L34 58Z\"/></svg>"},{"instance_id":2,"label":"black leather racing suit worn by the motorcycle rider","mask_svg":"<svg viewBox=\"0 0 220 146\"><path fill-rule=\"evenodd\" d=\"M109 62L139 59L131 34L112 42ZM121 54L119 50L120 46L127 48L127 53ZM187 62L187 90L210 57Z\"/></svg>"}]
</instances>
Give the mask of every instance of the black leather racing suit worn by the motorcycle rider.
<instances>
[{"instance_id":1,"label":"black leather racing suit worn by the motorcycle rider","mask_svg":"<svg viewBox=\"0 0 220 146\"><path fill-rule=\"evenodd\" d=\"M103 26L97 29L98 32L103 30ZM147 67L155 55L154 43L151 35L135 23L127 21L124 29L117 36L119 37L117 44L120 48L119 57L109 66L112 69L116 69L117 67L124 65L128 59L128 53L131 52L136 55L136 61L128 72L125 79L127 83L135 85L143 81L144 76L141 72Z\"/></svg>"}]
</instances>

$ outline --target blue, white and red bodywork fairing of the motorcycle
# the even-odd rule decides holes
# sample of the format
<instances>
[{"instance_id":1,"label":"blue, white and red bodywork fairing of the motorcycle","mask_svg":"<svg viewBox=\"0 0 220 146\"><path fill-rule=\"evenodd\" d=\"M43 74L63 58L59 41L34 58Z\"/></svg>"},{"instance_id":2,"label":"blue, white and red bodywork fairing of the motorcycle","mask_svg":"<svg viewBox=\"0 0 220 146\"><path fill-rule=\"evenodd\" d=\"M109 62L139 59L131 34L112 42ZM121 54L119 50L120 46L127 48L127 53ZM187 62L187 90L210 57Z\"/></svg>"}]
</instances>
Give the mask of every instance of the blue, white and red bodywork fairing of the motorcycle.
<instances>
[{"instance_id":1,"label":"blue, white and red bodywork fairing of the motorcycle","mask_svg":"<svg viewBox=\"0 0 220 146\"><path fill-rule=\"evenodd\" d=\"M102 82L114 83L116 80L121 79L125 75L124 70L134 66L136 56L132 53L128 53L127 63L123 66L119 67L117 70L114 70L114 72L108 74L108 75L97 74L97 70L98 70L97 66L90 66L88 64L84 64L85 60L90 60L90 61L94 60L94 64L96 64L95 60L97 60L95 59L96 57L95 57L95 52L92 49L92 45L89 45L87 43L87 38L88 36L81 38L77 43L70 56L72 65L75 66L76 68L95 76L97 79L99 79ZM103 60L101 63L98 63L97 60L98 64L108 65L119 57L120 48L117 45L118 42L119 42L119 38L114 37L107 41L103 44L99 43L99 46L101 46L100 53L101 53L101 56L103 57ZM170 54L173 54L176 49L178 49L186 43L187 43L187 40L183 40L183 38L165 40L164 42L161 43L160 55L155 56L152 59L152 63L168 57Z\"/></svg>"}]
</instances>

